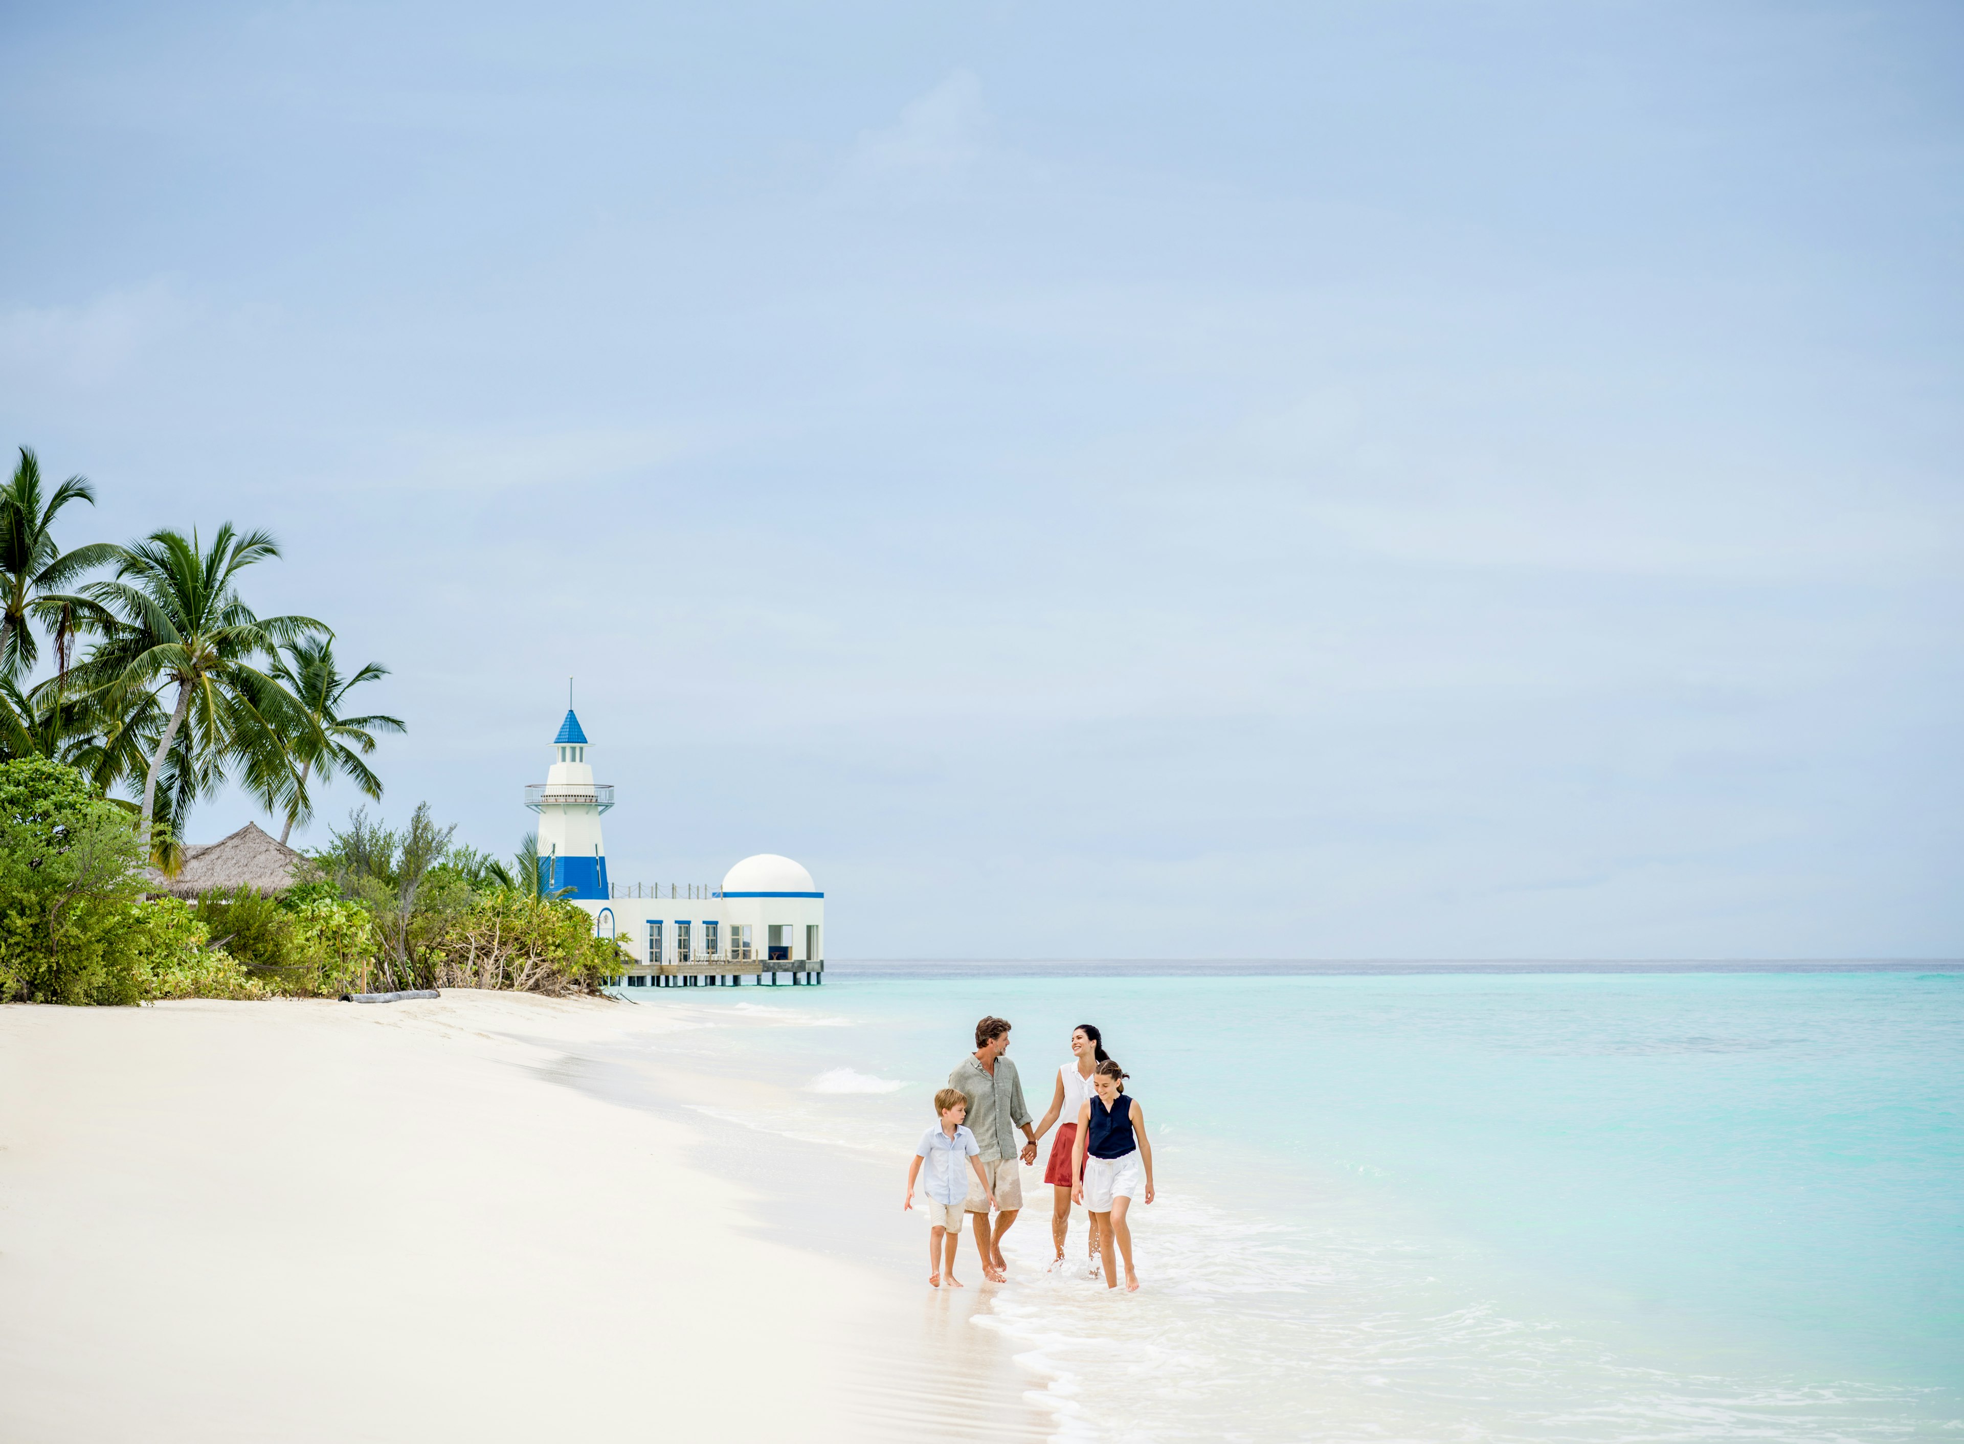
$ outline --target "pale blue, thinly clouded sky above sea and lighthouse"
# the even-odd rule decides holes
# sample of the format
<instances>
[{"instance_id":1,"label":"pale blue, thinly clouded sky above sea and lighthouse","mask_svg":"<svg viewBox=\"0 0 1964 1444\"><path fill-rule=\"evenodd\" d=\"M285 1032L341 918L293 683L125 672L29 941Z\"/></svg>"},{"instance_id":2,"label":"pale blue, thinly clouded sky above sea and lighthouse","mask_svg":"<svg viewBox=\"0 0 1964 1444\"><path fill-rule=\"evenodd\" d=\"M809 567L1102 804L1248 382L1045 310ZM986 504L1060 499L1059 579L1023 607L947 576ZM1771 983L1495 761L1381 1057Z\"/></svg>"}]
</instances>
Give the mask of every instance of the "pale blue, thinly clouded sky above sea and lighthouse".
<instances>
[{"instance_id":1,"label":"pale blue, thinly clouded sky above sea and lighthouse","mask_svg":"<svg viewBox=\"0 0 1964 1444\"><path fill-rule=\"evenodd\" d=\"M1964 955L1952 4L0 53L0 444L269 528L393 823L515 851L572 678L613 878L795 857L841 959Z\"/></svg>"}]
</instances>

